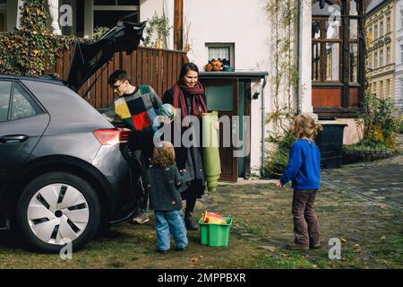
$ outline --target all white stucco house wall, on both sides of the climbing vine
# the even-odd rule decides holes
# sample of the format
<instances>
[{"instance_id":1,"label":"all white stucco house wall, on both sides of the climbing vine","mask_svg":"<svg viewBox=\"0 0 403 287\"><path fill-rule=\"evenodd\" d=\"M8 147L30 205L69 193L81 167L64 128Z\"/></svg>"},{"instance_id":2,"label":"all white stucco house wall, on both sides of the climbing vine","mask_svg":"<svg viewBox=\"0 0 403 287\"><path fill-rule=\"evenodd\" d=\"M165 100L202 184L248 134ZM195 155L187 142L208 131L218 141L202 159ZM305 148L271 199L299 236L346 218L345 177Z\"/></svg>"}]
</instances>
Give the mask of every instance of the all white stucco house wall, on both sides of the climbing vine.
<instances>
[{"instance_id":1,"label":"all white stucco house wall, on both sides of the climbing vine","mask_svg":"<svg viewBox=\"0 0 403 287\"><path fill-rule=\"evenodd\" d=\"M303 113L312 113L312 87L311 87L311 3L303 1L304 17L301 30L304 39L302 46L301 83L303 88L303 101L300 110ZM236 71L268 72L268 83L265 88L265 112L273 111L272 87L270 74L272 74L272 39L268 15L266 12L267 0L184 0L184 35L188 33L191 50L187 56L190 61L199 66L201 70L208 62L208 48L206 43L233 43L235 46ZM172 4L172 9L174 5ZM157 11L163 11L163 1L141 0L141 21ZM186 27L190 24L190 29ZM173 24L172 24L173 25ZM298 25L299 26L299 25ZM301 29L298 28L298 29ZM296 32L296 30L295 30ZM296 37L296 35L294 35ZM295 39L296 40L296 39ZM296 53L296 50L294 51ZM253 83L252 83L253 85ZM296 89L293 89L295 92ZM282 95L285 95L281 91ZM285 98L279 99L282 104ZM292 99L296 109L296 95ZM262 105L261 98L252 100L251 118L251 167L253 172L259 174L261 167L262 143ZM266 125L266 133L272 127Z\"/></svg>"}]
</instances>

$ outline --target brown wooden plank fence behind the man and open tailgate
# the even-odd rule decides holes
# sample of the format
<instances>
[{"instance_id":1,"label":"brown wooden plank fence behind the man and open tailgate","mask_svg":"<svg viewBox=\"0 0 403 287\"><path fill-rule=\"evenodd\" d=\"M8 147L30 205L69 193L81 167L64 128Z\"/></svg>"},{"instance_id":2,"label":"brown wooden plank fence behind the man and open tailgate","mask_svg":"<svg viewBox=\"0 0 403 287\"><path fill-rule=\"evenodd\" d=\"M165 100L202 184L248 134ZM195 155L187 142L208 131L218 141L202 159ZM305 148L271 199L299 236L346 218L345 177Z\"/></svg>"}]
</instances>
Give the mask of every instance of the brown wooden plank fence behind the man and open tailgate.
<instances>
[{"instance_id":1,"label":"brown wooden plank fence behind the man and open tailgate","mask_svg":"<svg viewBox=\"0 0 403 287\"><path fill-rule=\"evenodd\" d=\"M45 72L59 74L67 79L73 48L65 50L56 60L55 66ZM132 76L134 84L150 85L161 98L164 92L177 81L181 66L189 62L184 51L139 47L131 55L116 53L114 57L93 74L81 86L78 93L82 96L88 91L91 84L97 82L86 94L85 100L96 109L105 109L113 101L112 89L107 79L116 69L124 69Z\"/></svg>"}]
</instances>

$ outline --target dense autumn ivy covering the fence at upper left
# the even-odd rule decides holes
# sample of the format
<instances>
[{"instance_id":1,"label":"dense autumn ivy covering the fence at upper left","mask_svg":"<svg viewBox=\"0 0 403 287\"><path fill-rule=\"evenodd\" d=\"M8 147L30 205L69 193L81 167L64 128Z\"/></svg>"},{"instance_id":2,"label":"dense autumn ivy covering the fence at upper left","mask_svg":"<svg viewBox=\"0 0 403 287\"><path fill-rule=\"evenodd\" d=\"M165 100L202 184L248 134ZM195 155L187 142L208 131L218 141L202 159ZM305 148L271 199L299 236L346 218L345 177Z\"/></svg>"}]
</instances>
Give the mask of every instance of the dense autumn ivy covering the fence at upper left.
<instances>
[{"instance_id":1,"label":"dense autumn ivy covering the fence at upper left","mask_svg":"<svg viewBox=\"0 0 403 287\"><path fill-rule=\"evenodd\" d=\"M47 29L47 1L25 1L21 27L0 33L0 73L41 75L74 37L56 36Z\"/></svg>"}]
</instances>

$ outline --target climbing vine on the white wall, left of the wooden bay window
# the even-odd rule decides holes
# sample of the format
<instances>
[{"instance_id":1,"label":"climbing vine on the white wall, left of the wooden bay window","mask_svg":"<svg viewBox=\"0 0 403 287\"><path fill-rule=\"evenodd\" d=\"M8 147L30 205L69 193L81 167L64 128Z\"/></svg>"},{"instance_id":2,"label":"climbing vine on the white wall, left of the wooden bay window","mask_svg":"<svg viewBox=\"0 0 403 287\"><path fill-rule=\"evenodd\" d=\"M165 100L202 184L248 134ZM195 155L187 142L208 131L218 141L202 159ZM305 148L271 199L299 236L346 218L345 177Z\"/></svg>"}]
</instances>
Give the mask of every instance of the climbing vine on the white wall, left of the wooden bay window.
<instances>
[{"instance_id":1,"label":"climbing vine on the white wall, left of the wooden bay window","mask_svg":"<svg viewBox=\"0 0 403 287\"><path fill-rule=\"evenodd\" d=\"M304 1L304 0L303 0ZM266 11L270 20L272 55L273 110L266 115L266 124L273 128L266 138L265 175L278 178L287 166L288 152L296 137L290 130L290 122L296 115L293 94L299 79L296 57L296 0L268 0Z\"/></svg>"}]
</instances>

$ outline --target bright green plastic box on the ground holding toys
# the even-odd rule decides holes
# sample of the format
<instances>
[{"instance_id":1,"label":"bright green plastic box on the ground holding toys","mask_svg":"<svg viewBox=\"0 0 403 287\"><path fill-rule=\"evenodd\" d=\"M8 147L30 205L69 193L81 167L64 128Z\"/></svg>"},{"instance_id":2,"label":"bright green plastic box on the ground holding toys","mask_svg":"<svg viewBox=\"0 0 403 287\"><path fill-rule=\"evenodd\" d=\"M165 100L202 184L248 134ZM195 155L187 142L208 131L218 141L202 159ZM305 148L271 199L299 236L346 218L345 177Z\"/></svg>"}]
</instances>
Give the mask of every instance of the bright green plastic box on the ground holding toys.
<instances>
[{"instance_id":1,"label":"bright green plastic box on the ground holding toys","mask_svg":"<svg viewBox=\"0 0 403 287\"><path fill-rule=\"evenodd\" d=\"M221 217L221 219L226 221L227 225L204 223L200 219L201 245L212 247L228 246L229 229L232 225L232 218Z\"/></svg>"}]
</instances>

